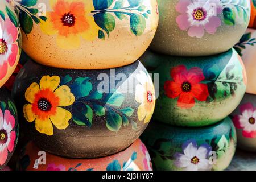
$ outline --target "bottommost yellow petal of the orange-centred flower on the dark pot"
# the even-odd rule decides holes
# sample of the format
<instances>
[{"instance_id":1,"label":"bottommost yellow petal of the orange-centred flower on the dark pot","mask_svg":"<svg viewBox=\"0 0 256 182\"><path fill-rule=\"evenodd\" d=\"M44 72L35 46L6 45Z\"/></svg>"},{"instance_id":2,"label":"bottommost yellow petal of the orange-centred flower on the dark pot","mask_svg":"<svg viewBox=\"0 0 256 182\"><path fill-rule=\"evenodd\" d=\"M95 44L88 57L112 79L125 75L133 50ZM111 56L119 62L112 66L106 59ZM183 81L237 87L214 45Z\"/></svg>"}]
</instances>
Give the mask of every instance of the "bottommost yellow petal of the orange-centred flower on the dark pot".
<instances>
[{"instance_id":1,"label":"bottommost yellow petal of the orange-centred flower on the dark pot","mask_svg":"<svg viewBox=\"0 0 256 182\"><path fill-rule=\"evenodd\" d=\"M52 126L52 122L50 121L49 118L47 118L45 120L36 118L35 127L36 127L36 130L38 130L40 133L44 133L47 135L53 135L53 126Z\"/></svg>"}]
</instances>

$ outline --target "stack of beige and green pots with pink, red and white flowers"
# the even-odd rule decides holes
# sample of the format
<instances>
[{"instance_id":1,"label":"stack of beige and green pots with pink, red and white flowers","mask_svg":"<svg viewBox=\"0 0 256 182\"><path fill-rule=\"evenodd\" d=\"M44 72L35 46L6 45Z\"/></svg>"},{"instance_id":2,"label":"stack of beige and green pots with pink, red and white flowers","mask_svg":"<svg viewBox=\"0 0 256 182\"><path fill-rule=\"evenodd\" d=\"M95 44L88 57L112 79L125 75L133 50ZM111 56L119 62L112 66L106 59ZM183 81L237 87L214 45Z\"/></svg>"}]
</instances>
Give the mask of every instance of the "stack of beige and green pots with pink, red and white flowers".
<instances>
[{"instance_id":1,"label":"stack of beige and green pots with pink, red and white flowers","mask_svg":"<svg viewBox=\"0 0 256 182\"><path fill-rule=\"evenodd\" d=\"M232 47L249 24L250 1L159 0L158 6L158 31L141 61L159 73L159 93L142 141L154 169L224 170L236 149L228 115L246 89Z\"/></svg>"}]
</instances>

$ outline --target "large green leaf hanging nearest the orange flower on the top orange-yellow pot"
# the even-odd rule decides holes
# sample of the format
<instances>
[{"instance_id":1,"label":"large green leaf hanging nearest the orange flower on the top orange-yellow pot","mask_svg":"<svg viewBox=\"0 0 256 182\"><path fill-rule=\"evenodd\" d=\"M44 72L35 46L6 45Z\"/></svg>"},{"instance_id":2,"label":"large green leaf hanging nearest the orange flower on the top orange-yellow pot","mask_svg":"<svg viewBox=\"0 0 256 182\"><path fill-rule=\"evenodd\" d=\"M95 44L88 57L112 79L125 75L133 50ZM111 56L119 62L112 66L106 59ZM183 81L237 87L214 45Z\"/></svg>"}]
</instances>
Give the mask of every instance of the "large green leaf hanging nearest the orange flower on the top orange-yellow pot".
<instances>
[{"instance_id":1,"label":"large green leaf hanging nearest the orange flower on the top orange-yellow pot","mask_svg":"<svg viewBox=\"0 0 256 182\"><path fill-rule=\"evenodd\" d=\"M115 28L115 18L110 13L100 12L93 15L95 23L101 27L109 36L109 32Z\"/></svg>"}]
</instances>

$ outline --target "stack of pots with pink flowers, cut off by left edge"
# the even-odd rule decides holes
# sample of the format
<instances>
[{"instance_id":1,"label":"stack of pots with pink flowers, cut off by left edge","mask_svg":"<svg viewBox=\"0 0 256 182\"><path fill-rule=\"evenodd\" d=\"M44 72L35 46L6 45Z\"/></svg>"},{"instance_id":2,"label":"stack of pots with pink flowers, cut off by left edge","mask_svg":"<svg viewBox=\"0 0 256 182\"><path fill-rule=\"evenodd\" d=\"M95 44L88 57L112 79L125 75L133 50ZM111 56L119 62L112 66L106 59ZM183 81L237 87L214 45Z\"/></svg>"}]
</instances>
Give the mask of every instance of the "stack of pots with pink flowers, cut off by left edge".
<instances>
[{"instance_id":1,"label":"stack of pots with pink flowers, cut off by left edge","mask_svg":"<svg viewBox=\"0 0 256 182\"><path fill-rule=\"evenodd\" d=\"M18 140L18 113L10 92L4 88L14 72L21 52L21 34L14 9L0 2L0 171L7 163Z\"/></svg>"}]
</instances>

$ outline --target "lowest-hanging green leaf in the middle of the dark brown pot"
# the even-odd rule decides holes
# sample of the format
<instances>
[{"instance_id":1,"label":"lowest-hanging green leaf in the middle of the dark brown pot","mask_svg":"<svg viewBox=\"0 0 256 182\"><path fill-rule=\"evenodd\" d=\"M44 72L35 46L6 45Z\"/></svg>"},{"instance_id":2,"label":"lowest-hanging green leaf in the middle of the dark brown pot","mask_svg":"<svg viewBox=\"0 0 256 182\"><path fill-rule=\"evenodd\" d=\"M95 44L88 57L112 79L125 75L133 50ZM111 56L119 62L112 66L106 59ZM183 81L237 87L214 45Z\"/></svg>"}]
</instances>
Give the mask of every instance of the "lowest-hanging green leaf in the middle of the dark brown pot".
<instances>
[{"instance_id":1,"label":"lowest-hanging green leaf in the middle of the dark brown pot","mask_svg":"<svg viewBox=\"0 0 256 182\"><path fill-rule=\"evenodd\" d=\"M110 107L107 111L106 127L110 131L119 131L122 126L122 118L119 114L115 113Z\"/></svg>"}]
</instances>

